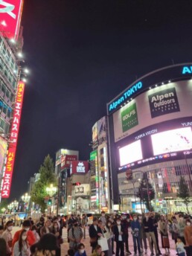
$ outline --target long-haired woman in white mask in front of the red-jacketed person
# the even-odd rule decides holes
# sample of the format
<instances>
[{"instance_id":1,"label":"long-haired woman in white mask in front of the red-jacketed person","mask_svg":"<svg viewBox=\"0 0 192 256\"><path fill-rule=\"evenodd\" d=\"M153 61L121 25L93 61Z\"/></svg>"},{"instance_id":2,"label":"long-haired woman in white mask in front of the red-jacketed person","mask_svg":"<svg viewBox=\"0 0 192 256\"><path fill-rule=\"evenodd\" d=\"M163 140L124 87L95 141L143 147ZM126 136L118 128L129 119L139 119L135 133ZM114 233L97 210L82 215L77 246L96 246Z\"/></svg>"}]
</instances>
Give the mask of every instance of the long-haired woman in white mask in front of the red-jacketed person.
<instances>
[{"instance_id":1,"label":"long-haired woman in white mask in front of the red-jacketed person","mask_svg":"<svg viewBox=\"0 0 192 256\"><path fill-rule=\"evenodd\" d=\"M30 256L30 247L27 240L27 231L23 229L20 233L19 240L15 243L13 249L13 256Z\"/></svg>"}]
</instances>

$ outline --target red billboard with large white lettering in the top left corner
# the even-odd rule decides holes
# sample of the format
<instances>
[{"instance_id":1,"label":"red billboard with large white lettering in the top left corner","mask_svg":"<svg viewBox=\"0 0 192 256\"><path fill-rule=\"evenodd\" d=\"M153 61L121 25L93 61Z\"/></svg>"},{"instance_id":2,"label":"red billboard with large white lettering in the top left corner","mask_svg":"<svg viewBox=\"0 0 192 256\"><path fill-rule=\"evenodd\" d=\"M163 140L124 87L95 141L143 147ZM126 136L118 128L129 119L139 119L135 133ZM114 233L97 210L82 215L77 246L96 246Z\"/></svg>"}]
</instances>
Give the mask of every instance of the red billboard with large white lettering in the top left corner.
<instances>
[{"instance_id":1,"label":"red billboard with large white lettering in the top left corner","mask_svg":"<svg viewBox=\"0 0 192 256\"><path fill-rule=\"evenodd\" d=\"M0 0L0 23L3 35L17 39L22 18L23 0Z\"/></svg>"}]
</instances>

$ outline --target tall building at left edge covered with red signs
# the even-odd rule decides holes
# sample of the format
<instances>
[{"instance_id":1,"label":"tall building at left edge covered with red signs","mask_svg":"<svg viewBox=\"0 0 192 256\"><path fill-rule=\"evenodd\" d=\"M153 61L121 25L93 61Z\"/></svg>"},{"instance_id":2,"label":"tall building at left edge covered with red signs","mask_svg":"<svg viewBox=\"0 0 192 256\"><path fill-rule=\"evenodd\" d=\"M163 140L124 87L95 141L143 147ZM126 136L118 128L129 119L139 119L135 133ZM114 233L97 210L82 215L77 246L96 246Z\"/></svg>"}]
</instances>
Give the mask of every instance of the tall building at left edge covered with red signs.
<instances>
[{"instance_id":1,"label":"tall building at left edge covered with red signs","mask_svg":"<svg viewBox=\"0 0 192 256\"><path fill-rule=\"evenodd\" d=\"M8 197L10 194L22 109L22 102L17 100L22 99L24 92L24 84L19 83L23 61L22 27L20 28L22 6L22 0L9 0L1 1L0 7L0 201L1 196ZM16 118L18 111L19 116ZM12 150L7 151L10 147ZM10 159L7 154L11 155ZM6 171L9 173L6 174ZM4 175L7 179L3 185Z\"/></svg>"}]
</instances>

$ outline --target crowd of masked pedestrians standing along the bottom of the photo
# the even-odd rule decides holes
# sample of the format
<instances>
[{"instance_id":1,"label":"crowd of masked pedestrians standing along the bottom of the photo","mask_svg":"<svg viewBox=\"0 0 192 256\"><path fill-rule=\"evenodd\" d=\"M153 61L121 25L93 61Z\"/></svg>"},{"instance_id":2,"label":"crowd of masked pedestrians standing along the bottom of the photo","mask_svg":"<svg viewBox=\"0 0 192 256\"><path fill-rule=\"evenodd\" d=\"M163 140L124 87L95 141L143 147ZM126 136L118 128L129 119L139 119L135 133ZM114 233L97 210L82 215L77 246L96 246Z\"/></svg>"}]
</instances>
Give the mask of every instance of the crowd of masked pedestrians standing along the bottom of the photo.
<instances>
[{"instance_id":1,"label":"crowd of masked pedestrians standing along the bottom of the photo","mask_svg":"<svg viewBox=\"0 0 192 256\"><path fill-rule=\"evenodd\" d=\"M66 224L66 225L65 225ZM40 217L39 221L29 218L22 222L22 228L12 237L13 222L0 225L1 256L60 256L63 243L63 227L67 228L68 255L88 256L82 243L89 228L91 256L125 255L170 255L170 239L175 242L176 255L192 256L192 225L190 218L146 214L102 214L93 217L88 227L86 214L63 218ZM169 235L170 234L170 235ZM170 238L171 237L171 238ZM129 241L132 239L133 252ZM90 255L89 255L90 256Z\"/></svg>"}]
</instances>

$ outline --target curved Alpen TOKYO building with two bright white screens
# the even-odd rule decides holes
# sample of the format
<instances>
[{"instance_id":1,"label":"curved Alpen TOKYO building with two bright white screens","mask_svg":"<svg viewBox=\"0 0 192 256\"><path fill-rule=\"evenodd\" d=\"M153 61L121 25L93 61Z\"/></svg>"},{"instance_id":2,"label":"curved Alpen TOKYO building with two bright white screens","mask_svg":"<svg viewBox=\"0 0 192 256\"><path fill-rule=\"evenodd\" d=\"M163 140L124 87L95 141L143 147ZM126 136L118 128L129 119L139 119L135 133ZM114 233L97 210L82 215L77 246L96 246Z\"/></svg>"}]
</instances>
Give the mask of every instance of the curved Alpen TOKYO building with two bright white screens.
<instances>
[{"instance_id":1,"label":"curved Alpen TOKYO building with two bright white screens","mask_svg":"<svg viewBox=\"0 0 192 256\"><path fill-rule=\"evenodd\" d=\"M155 210L184 211L176 195L180 176L192 188L191 78L191 63L160 68L107 104L113 205L141 211L135 194L147 173ZM127 182L129 169L132 181Z\"/></svg>"}]
</instances>

